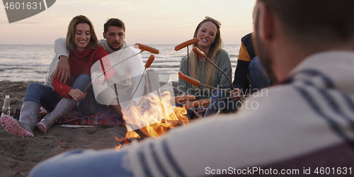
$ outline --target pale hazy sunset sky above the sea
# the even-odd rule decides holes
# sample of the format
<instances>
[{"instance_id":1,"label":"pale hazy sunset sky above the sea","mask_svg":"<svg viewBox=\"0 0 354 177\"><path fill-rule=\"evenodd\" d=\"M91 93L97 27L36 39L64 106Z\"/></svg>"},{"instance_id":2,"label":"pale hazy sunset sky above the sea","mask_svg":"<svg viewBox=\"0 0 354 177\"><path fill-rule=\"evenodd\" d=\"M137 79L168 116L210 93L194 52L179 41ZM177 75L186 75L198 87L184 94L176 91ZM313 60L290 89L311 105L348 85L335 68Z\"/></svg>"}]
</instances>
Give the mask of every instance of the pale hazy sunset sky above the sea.
<instances>
[{"instance_id":1,"label":"pale hazy sunset sky above the sea","mask_svg":"<svg viewBox=\"0 0 354 177\"><path fill-rule=\"evenodd\" d=\"M13 0L15 1L15 0ZM224 44L240 44L253 31L252 11L256 0L57 0L47 10L15 23L8 23L0 8L0 44L54 44L67 35L74 16L87 16L98 39L108 18L125 23L127 44L178 45L193 38L198 23L210 16L222 23Z\"/></svg>"}]
</instances>

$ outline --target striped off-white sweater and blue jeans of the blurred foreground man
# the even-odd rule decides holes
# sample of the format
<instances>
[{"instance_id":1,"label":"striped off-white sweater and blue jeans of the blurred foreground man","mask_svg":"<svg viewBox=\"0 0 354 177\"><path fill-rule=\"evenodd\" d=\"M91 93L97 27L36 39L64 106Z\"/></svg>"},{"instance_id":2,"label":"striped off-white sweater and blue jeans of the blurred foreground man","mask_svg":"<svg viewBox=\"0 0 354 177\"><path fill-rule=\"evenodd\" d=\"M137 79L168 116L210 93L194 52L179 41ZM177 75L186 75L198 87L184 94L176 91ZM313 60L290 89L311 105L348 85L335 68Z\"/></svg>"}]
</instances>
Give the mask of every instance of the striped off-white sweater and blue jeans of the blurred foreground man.
<instances>
[{"instance_id":1,"label":"striped off-white sweater and blue jeans of the blurred foreground man","mask_svg":"<svg viewBox=\"0 0 354 177\"><path fill-rule=\"evenodd\" d=\"M321 52L282 84L253 94L237 113L198 120L120 152L67 152L31 174L353 176L353 68L354 52Z\"/></svg>"}]
</instances>

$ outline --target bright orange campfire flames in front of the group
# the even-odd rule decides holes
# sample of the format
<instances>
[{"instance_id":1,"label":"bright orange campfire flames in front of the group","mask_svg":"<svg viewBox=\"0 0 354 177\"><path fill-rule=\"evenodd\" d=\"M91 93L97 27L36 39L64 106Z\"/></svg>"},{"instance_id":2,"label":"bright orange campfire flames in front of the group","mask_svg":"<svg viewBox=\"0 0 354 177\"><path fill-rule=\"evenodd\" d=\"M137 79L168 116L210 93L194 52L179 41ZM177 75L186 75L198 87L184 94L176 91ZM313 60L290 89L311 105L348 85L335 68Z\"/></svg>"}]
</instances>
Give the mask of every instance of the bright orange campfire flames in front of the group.
<instances>
[{"instance_id":1,"label":"bright orange campfire flames in front of the group","mask_svg":"<svg viewBox=\"0 0 354 177\"><path fill-rule=\"evenodd\" d=\"M172 98L174 101L174 98ZM161 96L145 98L138 106L131 106L129 110L123 110L123 119L127 124L125 139L140 138L137 132L142 132L148 137L157 138L168 132L171 128L189 123L185 116L185 108L171 105L171 93L164 91ZM137 131L137 132L135 132ZM122 142L122 139L116 138ZM115 148L119 150L121 144Z\"/></svg>"}]
</instances>

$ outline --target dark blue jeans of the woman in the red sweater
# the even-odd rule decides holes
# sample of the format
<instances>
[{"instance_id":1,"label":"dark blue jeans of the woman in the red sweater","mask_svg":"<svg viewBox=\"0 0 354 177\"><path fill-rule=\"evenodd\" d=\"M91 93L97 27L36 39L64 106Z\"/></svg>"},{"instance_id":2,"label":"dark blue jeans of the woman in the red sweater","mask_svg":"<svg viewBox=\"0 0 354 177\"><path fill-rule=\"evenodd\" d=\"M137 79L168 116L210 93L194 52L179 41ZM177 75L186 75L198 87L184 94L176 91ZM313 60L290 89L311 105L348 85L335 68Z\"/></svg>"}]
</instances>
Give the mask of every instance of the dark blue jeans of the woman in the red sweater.
<instances>
[{"instance_id":1,"label":"dark blue jeans of the woman in the red sweater","mask_svg":"<svg viewBox=\"0 0 354 177\"><path fill-rule=\"evenodd\" d=\"M90 76L81 74L76 79L72 88L84 91L90 82ZM79 106L74 108L74 110L81 115L93 115L107 109L96 102L92 86L90 86L86 93L85 98L81 100ZM45 110L52 112L60 100L62 100L62 97L56 93L52 87L39 83L31 83L25 91L25 98L23 101L33 101L38 105L42 105Z\"/></svg>"}]
</instances>

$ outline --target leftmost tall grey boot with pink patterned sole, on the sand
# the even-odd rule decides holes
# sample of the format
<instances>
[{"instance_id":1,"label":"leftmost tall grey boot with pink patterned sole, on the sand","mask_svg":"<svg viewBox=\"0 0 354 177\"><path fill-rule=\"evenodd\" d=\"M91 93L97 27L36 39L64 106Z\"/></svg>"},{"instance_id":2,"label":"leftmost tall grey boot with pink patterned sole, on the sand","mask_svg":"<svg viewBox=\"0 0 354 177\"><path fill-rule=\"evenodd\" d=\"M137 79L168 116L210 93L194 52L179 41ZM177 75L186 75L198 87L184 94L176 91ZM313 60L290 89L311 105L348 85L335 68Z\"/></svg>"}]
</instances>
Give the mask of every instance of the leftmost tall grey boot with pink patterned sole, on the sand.
<instances>
[{"instance_id":1,"label":"leftmost tall grey boot with pink patterned sole, on the sand","mask_svg":"<svg viewBox=\"0 0 354 177\"><path fill-rule=\"evenodd\" d=\"M23 102L20 119L8 115L1 116L0 123L6 132L18 137L34 137L33 130L38 121L40 106L33 101Z\"/></svg>"}]
</instances>

